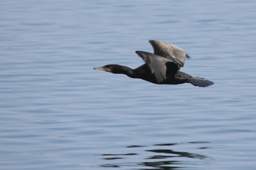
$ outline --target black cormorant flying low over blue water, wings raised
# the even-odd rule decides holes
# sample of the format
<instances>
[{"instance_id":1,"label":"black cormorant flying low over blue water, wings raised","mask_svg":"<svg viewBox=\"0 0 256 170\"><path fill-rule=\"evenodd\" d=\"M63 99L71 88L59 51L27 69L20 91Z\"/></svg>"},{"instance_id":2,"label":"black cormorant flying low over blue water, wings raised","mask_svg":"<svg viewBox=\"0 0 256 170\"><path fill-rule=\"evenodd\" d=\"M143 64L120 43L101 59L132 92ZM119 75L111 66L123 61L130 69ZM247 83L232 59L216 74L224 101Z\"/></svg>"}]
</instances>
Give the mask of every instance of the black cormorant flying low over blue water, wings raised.
<instances>
[{"instance_id":1,"label":"black cormorant flying low over blue water, wings raised","mask_svg":"<svg viewBox=\"0 0 256 170\"><path fill-rule=\"evenodd\" d=\"M154 54L145 51L135 51L145 64L131 69L127 66L109 64L102 67L94 67L96 70L104 70L114 74L125 74L130 78L140 78L154 84L183 84L190 83L198 87L208 87L214 84L210 80L200 77L192 77L179 71L185 64L185 58L189 57L183 49L172 44L158 40L150 40Z\"/></svg>"}]
</instances>

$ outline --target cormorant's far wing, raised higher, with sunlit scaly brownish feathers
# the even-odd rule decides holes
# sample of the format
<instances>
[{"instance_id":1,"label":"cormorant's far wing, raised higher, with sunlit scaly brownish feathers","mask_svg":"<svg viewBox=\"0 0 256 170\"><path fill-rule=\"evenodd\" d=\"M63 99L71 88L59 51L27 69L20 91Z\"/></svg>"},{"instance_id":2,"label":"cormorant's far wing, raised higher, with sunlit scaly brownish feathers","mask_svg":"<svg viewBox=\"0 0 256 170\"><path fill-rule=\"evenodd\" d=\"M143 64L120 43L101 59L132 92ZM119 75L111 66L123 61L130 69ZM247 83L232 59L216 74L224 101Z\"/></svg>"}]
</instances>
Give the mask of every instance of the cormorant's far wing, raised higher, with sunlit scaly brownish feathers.
<instances>
[{"instance_id":1,"label":"cormorant's far wing, raised higher, with sunlit scaly brownish feathers","mask_svg":"<svg viewBox=\"0 0 256 170\"><path fill-rule=\"evenodd\" d=\"M176 45L168 44L163 41L149 40L154 49L154 54L164 57L173 63L177 64L178 68L183 67L185 64L186 55L185 51Z\"/></svg>"}]
</instances>

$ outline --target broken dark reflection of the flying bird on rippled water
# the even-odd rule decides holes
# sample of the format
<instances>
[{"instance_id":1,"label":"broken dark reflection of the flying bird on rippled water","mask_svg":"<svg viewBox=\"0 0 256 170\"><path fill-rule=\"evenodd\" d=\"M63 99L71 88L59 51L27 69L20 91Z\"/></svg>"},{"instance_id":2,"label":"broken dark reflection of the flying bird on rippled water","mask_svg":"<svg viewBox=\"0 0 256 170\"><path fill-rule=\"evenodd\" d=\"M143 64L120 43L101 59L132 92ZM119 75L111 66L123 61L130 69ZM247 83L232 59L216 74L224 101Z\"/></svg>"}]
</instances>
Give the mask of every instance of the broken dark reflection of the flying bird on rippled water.
<instances>
[{"instance_id":1,"label":"broken dark reflection of the flying bird on rippled water","mask_svg":"<svg viewBox=\"0 0 256 170\"><path fill-rule=\"evenodd\" d=\"M112 164L102 164L100 167L108 167L108 168L124 168L124 167L132 167L129 170L198 170L200 168L205 168L209 164L208 156L202 154L195 154L190 152L179 152L173 150L174 145L185 145L185 144L202 144L208 142L189 142L189 143L166 143L166 144L156 144L150 147L156 149L143 150L143 152L152 153L151 156L148 154L146 158L140 158L142 160L152 160L145 162L119 162ZM138 148L138 147L148 147L148 146L140 146L140 145L132 145L126 148ZM160 149L161 148L161 149ZM210 147L198 147L196 149L209 149ZM140 152L141 150L137 150ZM101 154L100 156L104 156L102 158L104 160L117 160L117 159L125 159L132 158L132 156L140 156L142 154L138 153L127 153L127 154ZM143 154L144 155L144 154ZM138 160L138 158L135 158ZM159 161L159 159L164 159ZM153 161L158 160L158 161Z\"/></svg>"}]
</instances>

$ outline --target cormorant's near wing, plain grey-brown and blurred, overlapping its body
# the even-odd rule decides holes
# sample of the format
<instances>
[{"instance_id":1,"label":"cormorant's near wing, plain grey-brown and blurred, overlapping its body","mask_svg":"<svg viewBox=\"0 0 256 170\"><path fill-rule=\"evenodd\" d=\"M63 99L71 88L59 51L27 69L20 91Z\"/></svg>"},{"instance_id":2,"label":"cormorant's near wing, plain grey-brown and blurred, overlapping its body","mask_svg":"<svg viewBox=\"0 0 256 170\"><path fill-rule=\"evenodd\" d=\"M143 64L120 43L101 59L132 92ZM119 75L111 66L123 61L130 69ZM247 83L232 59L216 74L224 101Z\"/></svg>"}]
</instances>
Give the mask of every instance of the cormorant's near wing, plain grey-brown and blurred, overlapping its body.
<instances>
[{"instance_id":1,"label":"cormorant's near wing, plain grey-brown and blurred, overlapping its body","mask_svg":"<svg viewBox=\"0 0 256 170\"><path fill-rule=\"evenodd\" d=\"M145 61L151 73L154 74L154 76L156 77L158 83L166 79L166 63L172 61L145 51L135 52Z\"/></svg>"}]
</instances>

